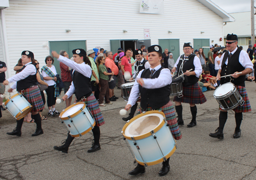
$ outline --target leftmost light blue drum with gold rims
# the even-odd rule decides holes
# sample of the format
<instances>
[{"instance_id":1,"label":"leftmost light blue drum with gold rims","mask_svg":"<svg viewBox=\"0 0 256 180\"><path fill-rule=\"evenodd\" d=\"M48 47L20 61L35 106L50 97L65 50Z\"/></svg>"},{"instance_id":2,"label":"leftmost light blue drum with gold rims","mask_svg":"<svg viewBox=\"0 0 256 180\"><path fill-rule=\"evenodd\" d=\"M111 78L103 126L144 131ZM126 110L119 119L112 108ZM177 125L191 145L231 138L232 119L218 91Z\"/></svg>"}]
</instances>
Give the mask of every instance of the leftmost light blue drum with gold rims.
<instances>
[{"instance_id":1,"label":"leftmost light blue drum with gold rims","mask_svg":"<svg viewBox=\"0 0 256 180\"><path fill-rule=\"evenodd\" d=\"M17 120L27 116L33 109L33 106L19 92L6 100L5 107Z\"/></svg>"}]
</instances>

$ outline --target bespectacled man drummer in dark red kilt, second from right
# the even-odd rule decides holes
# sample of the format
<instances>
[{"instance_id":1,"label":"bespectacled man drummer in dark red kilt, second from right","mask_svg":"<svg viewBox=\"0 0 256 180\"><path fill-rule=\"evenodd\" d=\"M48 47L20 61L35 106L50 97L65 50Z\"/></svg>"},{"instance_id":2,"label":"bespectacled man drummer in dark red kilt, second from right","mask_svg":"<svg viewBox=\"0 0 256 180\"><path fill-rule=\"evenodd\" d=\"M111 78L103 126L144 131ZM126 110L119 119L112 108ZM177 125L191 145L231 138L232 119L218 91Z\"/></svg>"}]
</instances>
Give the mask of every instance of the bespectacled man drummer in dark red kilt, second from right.
<instances>
[{"instance_id":1,"label":"bespectacled man drummer in dark red kilt, second from right","mask_svg":"<svg viewBox=\"0 0 256 180\"><path fill-rule=\"evenodd\" d=\"M184 55L181 55L172 69L174 73L177 69L178 75L184 73L183 76L183 96L174 97L175 109L178 114L178 124L184 125L182 119L182 105L181 102L189 103L190 111L192 114L192 120L187 127L193 127L197 125L197 106L196 104L203 104L206 102L206 98L198 85L199 76L202 73L202 66L200 59L193 54L192 44L184 43L183 45ZM192 69L192 70L190 70ZM190 70L190 71L189 71Z\"/></svg>"}]
</instances>

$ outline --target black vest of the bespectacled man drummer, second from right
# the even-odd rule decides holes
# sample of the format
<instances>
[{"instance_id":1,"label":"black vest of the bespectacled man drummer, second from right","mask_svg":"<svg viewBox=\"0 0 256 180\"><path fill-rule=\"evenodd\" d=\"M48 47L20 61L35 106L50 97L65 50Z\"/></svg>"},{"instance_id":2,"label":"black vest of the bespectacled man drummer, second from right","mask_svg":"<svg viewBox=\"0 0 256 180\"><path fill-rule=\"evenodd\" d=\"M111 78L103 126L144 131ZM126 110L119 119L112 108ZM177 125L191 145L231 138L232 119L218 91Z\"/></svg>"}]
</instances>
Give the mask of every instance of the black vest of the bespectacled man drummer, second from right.
<instances>
[{"instance_id":1,"label":"black vest of the bespectacled man drummer, second from right","mask_svg":"<svg viewBox=\"0 0 256 180\"><path fill-rule=\"evenodd\" d=\"M190 70L192 69L191 71L194 71L195 70L195 66L194 66L194 58L195 58L195 54L191 54L188 56L188 60L184 60L184 64L183 64L183 73L185 73L187 70ZM182 63L182 60L184 58L184 55L181 55L180 57L180 60L179 60L179 63L177 64L177 70L178 70L178 73L180 72L180 66L181 66L181 63ZM181 75L182 73L179 73L178 75ZM198 82L199 78L197 78L196 75L189 75L189 76L186 76L185 77L185 81L183 81L183 86L191 86L191 85L194 85Z\"/></svg>"}]
</instances>

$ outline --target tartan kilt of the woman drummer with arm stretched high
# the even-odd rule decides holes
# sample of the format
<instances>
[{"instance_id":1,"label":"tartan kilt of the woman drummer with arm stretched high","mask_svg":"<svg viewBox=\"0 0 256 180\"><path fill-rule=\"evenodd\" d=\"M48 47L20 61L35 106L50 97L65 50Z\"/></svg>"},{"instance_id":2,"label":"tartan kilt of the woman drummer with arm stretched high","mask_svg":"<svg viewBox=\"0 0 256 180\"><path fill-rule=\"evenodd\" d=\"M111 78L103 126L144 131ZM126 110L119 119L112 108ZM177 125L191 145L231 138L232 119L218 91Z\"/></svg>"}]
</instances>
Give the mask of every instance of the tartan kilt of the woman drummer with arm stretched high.
<instances>
[{"instance_id":1,"label":"tartan kilt of the woman drummer with arm stretched high","mask_svg":"<svg viewBox=\"0 0 256 180\"><path fill-rule=\"evenodd\" d=\"M98 101L96 100L93 93L90 96L88 96L87 98L83 99L82 101L87 105L88 109L92 113L92 115L96 121L96 125L97 126L103 125L105 123L105 121L104 121L101 111L99 109Z\"/></svg>"}]
</instances>

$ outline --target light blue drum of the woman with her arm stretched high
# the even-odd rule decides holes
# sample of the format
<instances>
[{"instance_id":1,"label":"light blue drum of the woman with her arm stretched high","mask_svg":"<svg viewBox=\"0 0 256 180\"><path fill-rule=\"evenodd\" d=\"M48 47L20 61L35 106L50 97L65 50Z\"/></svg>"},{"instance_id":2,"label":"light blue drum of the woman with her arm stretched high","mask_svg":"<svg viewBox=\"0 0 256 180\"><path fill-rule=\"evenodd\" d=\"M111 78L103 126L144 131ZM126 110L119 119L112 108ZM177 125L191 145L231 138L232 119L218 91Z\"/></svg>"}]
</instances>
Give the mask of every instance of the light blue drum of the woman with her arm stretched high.
<instances>
[{"instance_id":1,"label":"light blue drum of the woman with her arm stretched high","mask_svg":"<svg viewBox=\"0 0 256 180\"><path fill-rule=\"evenodd\" d=\"M84 102L76 102L59 115L72 137L79 137L91 131L96 122Z\"/></svg>"}]
</instances>

